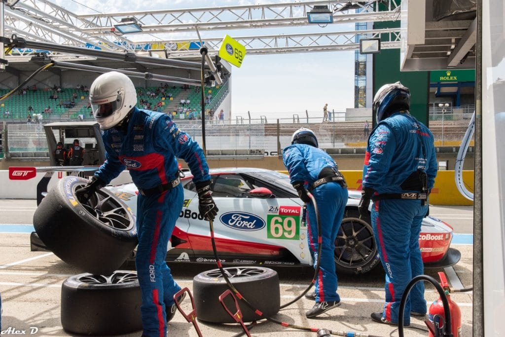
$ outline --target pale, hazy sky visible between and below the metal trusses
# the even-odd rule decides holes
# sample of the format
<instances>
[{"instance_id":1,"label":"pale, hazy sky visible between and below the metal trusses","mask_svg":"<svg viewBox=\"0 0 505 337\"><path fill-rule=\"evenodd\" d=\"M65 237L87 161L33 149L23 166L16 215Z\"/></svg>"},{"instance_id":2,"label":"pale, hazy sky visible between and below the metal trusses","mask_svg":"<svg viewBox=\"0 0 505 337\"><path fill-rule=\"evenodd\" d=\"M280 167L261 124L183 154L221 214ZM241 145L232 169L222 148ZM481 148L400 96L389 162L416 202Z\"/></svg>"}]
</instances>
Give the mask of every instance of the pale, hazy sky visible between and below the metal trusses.
<instances>
[{"instance_id":1,"label":"pale, hazy sky visible between and below the metal trusses","mask_svg":"<svg viewBox=\"0 0 505 337\"><path fill-rule=\"evenodd\" d=\"M288 3L279 0L52 0L59 6L76 14L117 13L157 9L190 9L201 7L235 6L245 4ZM354 31L354 24L332 24L322 28L317 25L305 27L262 28L229 31L200 31L205 37L256 36L266 34L324 33ZM135 41L145 37L127 35ZM184 36L185 35L185 36ZM196 39L196 32L178 34ZM343 112L354 108L354 52L285 53L276 55L247 55L240 68L233 67L231 80L231 117L251 118L260 116L291 118L322 117L323 106L329 111Z\"/></svg>"}]
</instances>

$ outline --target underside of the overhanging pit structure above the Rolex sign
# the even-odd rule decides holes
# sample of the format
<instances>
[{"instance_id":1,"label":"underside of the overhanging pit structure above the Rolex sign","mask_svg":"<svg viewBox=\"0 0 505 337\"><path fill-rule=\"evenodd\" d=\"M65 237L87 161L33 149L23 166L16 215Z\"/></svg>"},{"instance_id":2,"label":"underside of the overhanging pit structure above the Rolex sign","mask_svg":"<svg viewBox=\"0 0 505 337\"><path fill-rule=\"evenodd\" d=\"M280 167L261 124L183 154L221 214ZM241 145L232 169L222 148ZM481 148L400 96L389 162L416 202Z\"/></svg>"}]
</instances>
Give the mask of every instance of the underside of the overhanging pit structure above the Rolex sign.
<instances>
[{"instance_id":1,"label":"underside of the overhanging pit structure above the Rolex sign","mask_svg":"<svg viewBox=\"0 0 505 337\"><path fill-rule=\"evenodd\" d=\"M435 21L434 1L437 0L402 1L401 70L475 69L475 15L467 13Z\"/></svg>"}]
</instances>

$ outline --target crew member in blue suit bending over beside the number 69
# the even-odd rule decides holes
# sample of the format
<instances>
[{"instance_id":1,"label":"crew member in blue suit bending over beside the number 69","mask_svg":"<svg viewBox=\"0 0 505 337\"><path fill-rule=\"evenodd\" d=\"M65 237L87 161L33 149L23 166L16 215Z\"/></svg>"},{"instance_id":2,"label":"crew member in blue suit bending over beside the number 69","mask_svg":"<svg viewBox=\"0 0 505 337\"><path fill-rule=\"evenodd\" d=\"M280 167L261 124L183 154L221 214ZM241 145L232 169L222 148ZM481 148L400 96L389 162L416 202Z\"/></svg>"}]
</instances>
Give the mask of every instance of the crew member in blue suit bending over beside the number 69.
<instances>
[{"instance_id":1,"label":"crew member in blue suit bending over beside the number 69","mask_svg":"<svg viewBox=\"0 0 505 337\"><path fill-rule=\"evenodd\" d=\"M316 301L314 307L306 313L306 316L311 318L340 305L334 251L335 238L347 203L347 185L335 161L319 149L312 130L296 130L291 138L291 145L284 149L282 157L291 184L300 199L307 204L308 242L314 267L318 260L318 247L321 245L321 263L315 292L306 295ZM316 200L321 233L318 233L316 211L308 191ZM319 236L322 238L321 242L318 240Z\"/></svg>"}]
</instances>

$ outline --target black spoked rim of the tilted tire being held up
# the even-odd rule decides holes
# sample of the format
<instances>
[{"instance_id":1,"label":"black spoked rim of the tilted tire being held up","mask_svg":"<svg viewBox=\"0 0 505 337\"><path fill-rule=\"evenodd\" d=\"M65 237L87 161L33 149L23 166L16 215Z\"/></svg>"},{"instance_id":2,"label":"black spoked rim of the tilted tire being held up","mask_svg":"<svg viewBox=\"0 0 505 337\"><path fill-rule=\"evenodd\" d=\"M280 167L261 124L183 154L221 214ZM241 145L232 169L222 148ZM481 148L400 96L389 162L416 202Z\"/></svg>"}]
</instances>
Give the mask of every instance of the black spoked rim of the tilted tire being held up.
<instances>
[{"instance_id":1,"label":"black spoked rim of the tilted tire being held up","mask_svg":"<svg viewBox=\"0 0 505 337\"><path fill-rule=\"evenodd\" d=\"M74 193L75 189L79 187L82 187L82 185L74 187ZM82 196L77 196L77 200L93 218L106 226L125 231L133 227L133 221L131 221L128 210L116 198L108 194L106 190L97 190L88 200Z\"/></svg>"}]
</instances>

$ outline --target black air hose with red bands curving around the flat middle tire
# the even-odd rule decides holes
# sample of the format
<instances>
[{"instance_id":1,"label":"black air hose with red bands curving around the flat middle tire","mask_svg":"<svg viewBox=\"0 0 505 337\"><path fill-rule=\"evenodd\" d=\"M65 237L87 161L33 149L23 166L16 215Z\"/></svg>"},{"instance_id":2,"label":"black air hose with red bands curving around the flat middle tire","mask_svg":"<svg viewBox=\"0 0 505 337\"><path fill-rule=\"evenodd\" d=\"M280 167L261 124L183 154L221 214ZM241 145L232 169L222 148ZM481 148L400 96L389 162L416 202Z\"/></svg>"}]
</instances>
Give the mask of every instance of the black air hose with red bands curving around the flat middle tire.
<instances>
[{"instance_id":1,"label":"black air hose with red bands curving around the flat middle tire","mask_svg":"<svg viewBox=\"0 0 505 337\"><path fill-rule=\"evenodd\" d=\"M287 307L288 305L296 302L302 296L304 296L310 290L310 288L314 285L314 283L316 282L317 273L319 271L319 265L320 265L320 262L321 262L321 243L322 243L321 221L320 221L320 218L319 218L319 210L317 208L317 203L316 203L316 200L315 200L314 196L310 192L307 192L307 194L311 198L311 201L312 201L312 203L314 205L314 210L315 210L315 213L316 213L316 220L317 220L317 227L318 227L318 258L317 258L317 262L316 262L315 273L314 273L314 277L313 277L313 279L311 281L311 284L307 287L307 289L304 292L302 292L299 296L297 296L295 300L289 302L288 304L285 304L285 305L281 306L281 308ZM217 248L216 248L216 240L215 240L215 236L214 236L214 223L213 223L212 220L209 220L209 226L210 226L210 232L211 232L212 250L214 252L214 257L216 258L216 264L217 264L219 270L221 271L221 274L222 274L224 280L226 281L226 284L228 285L228 287L230 288L230 290L234 293L234 295L236 295L236 297L239 300L243 301L247 305L247 307L249 307L252 311L254 311L259 316L258 319L266 319L266 320L268 320L268 321L270 321L272 323L276 323L276 324L282 325L284 327L290 327L290 328L297 329L297 330L302 330L302 331L318 332L319 330L321 330L320 328L301 326L301 325L291 324L291 323L288 323L288 322L282 322L282 321L279 321L279 320L274 319L272 317L265 317L265 316L263 316L263 313L261 312L261 310L258 310L257 308L253 307L252 304L249 301L247 301L247 299L245 299L238 292L237 288L235 288L235 286L230 282L230 279L226 275L226 271L224 270L223 265L221 264L221 260L219 259L219 256L218 256L218 252L217 252ZM377 335L363 334L363 333L353 332L353 331L333 331L333 330L329 330L329 329L326 329L326 331L329 331L329 333L331 333L333 335L337 335L337 336L380 337L380 336L377 336ZM239 333L239 334L237 334L235 336L240 336L242 334L243 334L243 332L241 332L241 333Z\"/></svg>"}]
</instances>

